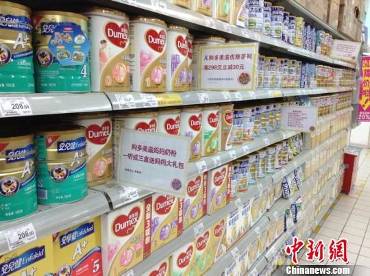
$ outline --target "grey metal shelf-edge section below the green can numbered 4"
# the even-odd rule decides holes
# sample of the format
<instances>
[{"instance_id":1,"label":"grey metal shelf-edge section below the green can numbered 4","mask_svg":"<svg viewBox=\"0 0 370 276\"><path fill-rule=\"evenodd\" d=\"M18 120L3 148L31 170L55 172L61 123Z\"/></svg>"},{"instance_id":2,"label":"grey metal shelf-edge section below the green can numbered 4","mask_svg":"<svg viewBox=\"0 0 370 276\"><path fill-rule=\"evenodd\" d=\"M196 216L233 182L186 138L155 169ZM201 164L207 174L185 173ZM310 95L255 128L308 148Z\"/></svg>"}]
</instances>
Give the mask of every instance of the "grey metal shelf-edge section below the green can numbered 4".
<instances>
[{"instance_id":1,"label":"grey metal shelf-edge section below the green can numbered 4","mask_svg":"<svg viewBox=\"0 0 370 276\"><path fill-rule=\"evenodd\" d=\"M25 97L33 115L112 110L104 93L0 93L0 99L8 97Z\"/></svg>"}]
</instances>

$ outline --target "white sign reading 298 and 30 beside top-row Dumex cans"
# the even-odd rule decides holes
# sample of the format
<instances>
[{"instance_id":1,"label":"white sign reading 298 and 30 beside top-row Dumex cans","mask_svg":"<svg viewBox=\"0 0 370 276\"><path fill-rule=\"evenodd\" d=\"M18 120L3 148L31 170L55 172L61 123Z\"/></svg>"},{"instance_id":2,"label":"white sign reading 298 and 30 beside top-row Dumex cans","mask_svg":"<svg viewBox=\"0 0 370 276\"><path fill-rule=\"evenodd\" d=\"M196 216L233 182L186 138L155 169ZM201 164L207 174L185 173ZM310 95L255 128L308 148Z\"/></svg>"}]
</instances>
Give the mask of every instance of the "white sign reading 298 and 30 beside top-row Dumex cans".
<instances>
[{"instance_id":1,"label":"white sign reading 298 and 30 beside top-row Dumex cans","mask_svg":"<svg viewBox=\"0 0 370 276\"><path fill-rule=\"evenodd\" d=\"M254 90L258 43L200 47L201 90Z\"/></svg>"}]
</instances>

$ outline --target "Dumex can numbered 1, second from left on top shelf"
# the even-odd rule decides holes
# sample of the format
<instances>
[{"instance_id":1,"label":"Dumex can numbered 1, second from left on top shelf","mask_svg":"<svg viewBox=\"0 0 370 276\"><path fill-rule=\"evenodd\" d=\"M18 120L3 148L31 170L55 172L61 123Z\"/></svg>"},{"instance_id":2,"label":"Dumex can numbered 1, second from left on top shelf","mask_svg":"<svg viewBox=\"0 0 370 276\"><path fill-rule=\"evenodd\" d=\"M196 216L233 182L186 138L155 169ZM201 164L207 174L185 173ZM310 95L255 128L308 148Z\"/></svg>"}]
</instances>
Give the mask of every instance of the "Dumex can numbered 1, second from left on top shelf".
<instances>
[{"instance_id":1,"label":"Dumex can numbered 1, second from left on top shelf","mask_svg":"<svg viewBox=\"0 0 370 276\"><path fill-rule=\"evenodd\" d=\"M130 80L136 92L166 91L167 25L136 16L130 24Z\"/></svg>"}]
</instances>

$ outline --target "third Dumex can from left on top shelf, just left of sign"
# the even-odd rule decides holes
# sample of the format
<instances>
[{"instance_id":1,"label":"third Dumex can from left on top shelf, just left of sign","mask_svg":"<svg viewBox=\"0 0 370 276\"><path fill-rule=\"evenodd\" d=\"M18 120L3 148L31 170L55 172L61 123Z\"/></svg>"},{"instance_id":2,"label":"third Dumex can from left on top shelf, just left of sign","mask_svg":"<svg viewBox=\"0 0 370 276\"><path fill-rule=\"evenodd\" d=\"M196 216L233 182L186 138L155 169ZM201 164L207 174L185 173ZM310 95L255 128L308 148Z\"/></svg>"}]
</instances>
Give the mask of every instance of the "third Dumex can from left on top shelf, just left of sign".
<instances>
[{"instance_id":1,"label":"third Dumex can from left on top shelf, just left of sign","mask_svg":"<svg viewBox=\"0 0 370 276\"><path fill-rule=\"evenodd\" d=\"M167 29L167 90L182 92L188 90L188 29L169 25Z\"/></svg>"}]
</instances>

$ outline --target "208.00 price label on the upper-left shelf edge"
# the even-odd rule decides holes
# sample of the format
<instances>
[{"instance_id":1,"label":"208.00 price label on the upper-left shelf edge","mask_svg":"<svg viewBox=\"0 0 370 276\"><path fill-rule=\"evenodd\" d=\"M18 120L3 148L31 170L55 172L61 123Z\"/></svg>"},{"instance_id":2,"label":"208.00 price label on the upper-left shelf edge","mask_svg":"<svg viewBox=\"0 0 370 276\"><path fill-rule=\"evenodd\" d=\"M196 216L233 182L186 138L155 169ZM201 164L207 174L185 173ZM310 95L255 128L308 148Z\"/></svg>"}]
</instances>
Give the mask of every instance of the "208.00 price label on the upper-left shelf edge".
<instances>
[{"instance_id":1,"label":"208.00 price label on the upper-left shelf edge","mask_svg":"<svg viewBox=\"0 0 370 276\"><path fill-rule=\"evenodd\" d=\"M1 97L1 117L29 116L32 115L32 108L26 97Z\"/></svg>"}]
</instances>

